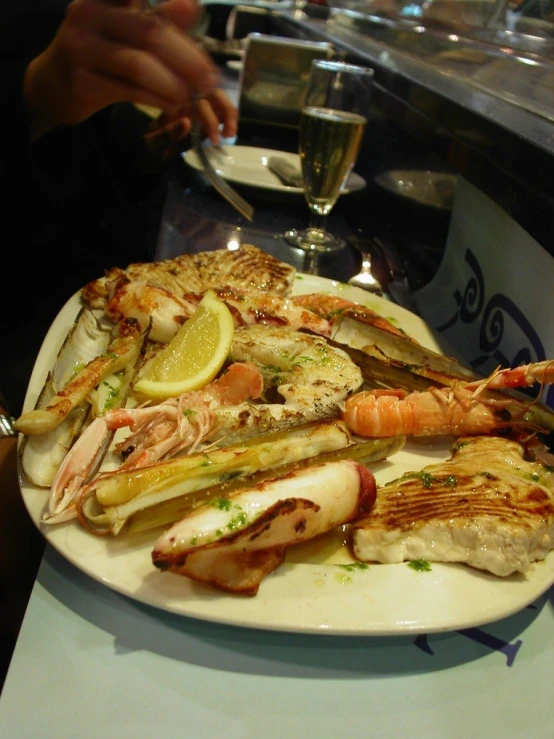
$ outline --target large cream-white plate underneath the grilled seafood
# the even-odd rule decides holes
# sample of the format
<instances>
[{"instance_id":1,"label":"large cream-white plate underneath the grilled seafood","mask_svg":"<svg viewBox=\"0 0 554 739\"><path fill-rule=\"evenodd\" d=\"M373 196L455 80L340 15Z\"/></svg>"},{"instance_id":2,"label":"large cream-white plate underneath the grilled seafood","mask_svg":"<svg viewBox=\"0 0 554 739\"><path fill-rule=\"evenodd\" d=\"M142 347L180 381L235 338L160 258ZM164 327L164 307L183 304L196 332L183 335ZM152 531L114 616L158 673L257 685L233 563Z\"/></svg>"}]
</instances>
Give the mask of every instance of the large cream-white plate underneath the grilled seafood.
<instances>
[{"instance_id":1,"label":"large cream-white plate underneath the grilled seafood","mask_svg":"<svg viewBox=\"0 0 554 739\"><path fill-rule=\"evenodd\" d=\"M422 344L437 349L426 324L413 313L359 288L313 275L298 275L296 293L331 292L392 318ZM29 384L25 409L34 406L46 374L80 307L73 296L48 332ZM372 468L378 483L446 459L449 444L409 444ZM498 578L453 564L416 572L407 564L371 565L349 572L353 560L340 536L291 547L287 562L262 582L253 598L223 594L152 565L156 536L97 537L76 522L41 524L48 492L31 485L21 469L27 509L48 542L83 572L113 590L165 611L222 624L334 635L418 634L479 626L510 616L554 582L554 551L528 576Z\"/></svg>"}]
</instances>

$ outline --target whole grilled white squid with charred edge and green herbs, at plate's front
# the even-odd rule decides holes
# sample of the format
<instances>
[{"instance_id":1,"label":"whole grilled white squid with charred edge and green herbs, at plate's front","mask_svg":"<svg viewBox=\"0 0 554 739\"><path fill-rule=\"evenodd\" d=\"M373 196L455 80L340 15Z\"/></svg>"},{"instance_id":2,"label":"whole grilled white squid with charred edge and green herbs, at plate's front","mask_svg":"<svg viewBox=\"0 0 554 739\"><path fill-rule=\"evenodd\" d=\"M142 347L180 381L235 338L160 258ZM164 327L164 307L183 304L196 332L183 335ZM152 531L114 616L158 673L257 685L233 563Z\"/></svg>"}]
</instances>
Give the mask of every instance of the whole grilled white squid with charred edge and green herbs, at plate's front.
<instances>
[{"instance_id":1,"label":"whole grilled white squid with charred edge and green herbs, at plate's front","mask_svg":"<svg viewBox=\"0 0 554 739\"><path fill-rule=\"evenodd\" d=\"M375 478L342 460L272 480L202 506L156 542L156 567L216 588L256 595L287 547L368 513Z\"/></svg>"}]
</instances>

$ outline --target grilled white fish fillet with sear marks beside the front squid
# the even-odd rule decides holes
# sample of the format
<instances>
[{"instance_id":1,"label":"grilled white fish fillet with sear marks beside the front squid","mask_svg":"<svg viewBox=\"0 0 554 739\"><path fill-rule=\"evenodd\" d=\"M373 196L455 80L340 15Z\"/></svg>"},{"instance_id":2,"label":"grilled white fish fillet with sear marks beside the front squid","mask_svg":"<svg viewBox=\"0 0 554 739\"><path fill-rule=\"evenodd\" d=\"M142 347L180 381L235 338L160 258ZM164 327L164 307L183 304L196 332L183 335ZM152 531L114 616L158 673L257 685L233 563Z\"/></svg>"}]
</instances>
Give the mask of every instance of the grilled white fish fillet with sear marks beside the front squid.
<instances>
[{"instance_id":1,"label":"grilled white fish fillet with sear marks beside the front squid","mask_svg":"<svg viewBox=\"0 0 554 739\"><path fill-rule=\"evenodd\" d=\"M500 437L460 439L447 462L378 489L353 526L356 557L465 562L506 576L554 548L554 472Z\"/></svg>"}]
</instances>

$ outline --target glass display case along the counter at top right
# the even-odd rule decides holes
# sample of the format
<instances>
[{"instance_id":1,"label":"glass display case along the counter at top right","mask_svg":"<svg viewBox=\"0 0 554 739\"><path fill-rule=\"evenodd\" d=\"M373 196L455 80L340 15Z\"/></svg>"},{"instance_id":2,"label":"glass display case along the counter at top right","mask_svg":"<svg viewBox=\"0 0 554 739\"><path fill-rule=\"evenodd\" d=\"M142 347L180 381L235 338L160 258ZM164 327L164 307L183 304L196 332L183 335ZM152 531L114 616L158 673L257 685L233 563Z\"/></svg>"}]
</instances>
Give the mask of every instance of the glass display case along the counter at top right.
<instances>
[{"instance_id":1,"label":"glass display case along the counter at top right","mask_svg":"<svg viewBox=\"0 0 554 739\"><path fill-rule=\"evenodd\" d=\"M554 0L330 0L328 23L554 121Z\"/></svg>"}]
</instances>

